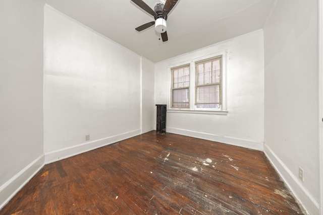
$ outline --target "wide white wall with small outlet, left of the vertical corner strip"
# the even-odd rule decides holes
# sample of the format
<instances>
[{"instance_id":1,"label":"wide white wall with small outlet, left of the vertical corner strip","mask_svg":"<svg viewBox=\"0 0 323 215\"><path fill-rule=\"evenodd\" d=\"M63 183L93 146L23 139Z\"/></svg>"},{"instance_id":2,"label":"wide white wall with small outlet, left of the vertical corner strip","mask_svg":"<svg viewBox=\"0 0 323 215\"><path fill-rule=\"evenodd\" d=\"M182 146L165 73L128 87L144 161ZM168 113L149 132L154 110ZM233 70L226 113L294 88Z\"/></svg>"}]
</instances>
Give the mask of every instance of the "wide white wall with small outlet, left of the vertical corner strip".
<instances>
[{"instance_id":1,"label":"wide white wall with small outlet, left of the vertical corner strip","mask_svg":"<svg viewBox=\"0 0 323 215\"><path fill-rule=\"evenodd\" d=\"M140 56L45 6L46 162L137 134Z\"/></svg>"}]
</instances>

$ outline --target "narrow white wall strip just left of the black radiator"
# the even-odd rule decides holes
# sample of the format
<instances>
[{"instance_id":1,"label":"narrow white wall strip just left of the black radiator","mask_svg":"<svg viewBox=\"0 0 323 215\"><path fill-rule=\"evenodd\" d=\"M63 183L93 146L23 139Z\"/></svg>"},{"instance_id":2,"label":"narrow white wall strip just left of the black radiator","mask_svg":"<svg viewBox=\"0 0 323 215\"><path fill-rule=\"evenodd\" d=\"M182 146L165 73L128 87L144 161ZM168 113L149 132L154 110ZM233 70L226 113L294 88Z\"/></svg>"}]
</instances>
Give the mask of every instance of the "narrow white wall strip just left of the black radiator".
<instances>
[{"instance_id":1,"label":"narrow white wall strip just left of the black radiator","mask_svg":"<svg viewBox=\"0 0 323 215\"><path fill-rule=\"evenodd\" d=\"M142 57L142 133L154 129L154 63Z\"/></svg>"}]
</instances>

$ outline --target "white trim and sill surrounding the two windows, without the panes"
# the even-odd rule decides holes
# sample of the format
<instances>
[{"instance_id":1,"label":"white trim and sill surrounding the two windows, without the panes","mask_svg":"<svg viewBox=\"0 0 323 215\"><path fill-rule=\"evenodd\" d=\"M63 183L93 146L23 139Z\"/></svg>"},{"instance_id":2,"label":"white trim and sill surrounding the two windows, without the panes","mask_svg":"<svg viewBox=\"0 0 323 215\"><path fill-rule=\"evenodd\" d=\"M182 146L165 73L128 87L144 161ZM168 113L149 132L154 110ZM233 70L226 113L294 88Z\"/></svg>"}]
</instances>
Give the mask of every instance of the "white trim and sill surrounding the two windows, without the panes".
<instances>
[{"instance_id":1,"label":"white trim and sill surrounding the two windows, without the panes","mask_svg":"<svg viewBox=\"0 0 323 215\"><path fill-rule=\"evenodd\" d=\"M221 109L217 108L197 108L195 105L195 62L201 61L208 58L217 57L222 55L222 105ZM172 68L178 67L181 65L190 64L190 87L189 87L189 108L172 108L172 97L171 97L171 88L172 88ZM196 113L196 114L215 114L215 115L227 115L227 50L220 51L217 53L197 57L188 61L176 63L174 65L168 66L167 69L167 78L168 78L168 112L170 113ZM194 84L192 84L194 83Z\"/></svg>"}]
</instances>

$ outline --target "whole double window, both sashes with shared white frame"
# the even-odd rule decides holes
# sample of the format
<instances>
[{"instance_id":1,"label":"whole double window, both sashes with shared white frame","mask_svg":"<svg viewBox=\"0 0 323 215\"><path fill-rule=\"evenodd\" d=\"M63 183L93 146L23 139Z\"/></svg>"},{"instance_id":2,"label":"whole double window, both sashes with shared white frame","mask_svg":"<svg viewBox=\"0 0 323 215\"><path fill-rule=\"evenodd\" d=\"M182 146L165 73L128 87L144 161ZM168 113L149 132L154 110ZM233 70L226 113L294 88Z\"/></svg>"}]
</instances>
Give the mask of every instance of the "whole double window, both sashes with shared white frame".
<instances>
[{"instance_id":1,"label":"whole double window, both sashes with shared white frame","mask_svg":"<svg viewBox=\"0 0 323 215\"><path fill-rule=\"evenodd\" d=\"M168 112L227 114L227 51L168 67Z\"/></svg>"}]
</instances>

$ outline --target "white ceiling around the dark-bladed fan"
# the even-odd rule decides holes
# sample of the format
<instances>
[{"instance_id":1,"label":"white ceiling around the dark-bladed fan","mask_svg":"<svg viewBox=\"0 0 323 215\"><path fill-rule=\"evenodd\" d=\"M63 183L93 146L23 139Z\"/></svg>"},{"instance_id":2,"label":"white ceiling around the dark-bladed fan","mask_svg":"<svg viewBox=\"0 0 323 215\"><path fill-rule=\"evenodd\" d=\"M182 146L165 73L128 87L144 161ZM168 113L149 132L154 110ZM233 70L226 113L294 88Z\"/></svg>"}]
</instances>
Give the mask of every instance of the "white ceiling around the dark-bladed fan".
<instances>
[{"instance_id":1,"label":"white ceiling around the dark-bladed fan","mask_svg":"<svg viewBox=\"0 0 323 215\"><path fill-rule=\"evenodd\" d=\"M143 0L152 9L164 0ZM153 17L130 0L45 0L45 3L139 55L158 62L261 29L275 0L179 0L168 16L168 41Z\"/></svg>"}]
</instances>

